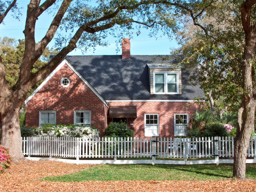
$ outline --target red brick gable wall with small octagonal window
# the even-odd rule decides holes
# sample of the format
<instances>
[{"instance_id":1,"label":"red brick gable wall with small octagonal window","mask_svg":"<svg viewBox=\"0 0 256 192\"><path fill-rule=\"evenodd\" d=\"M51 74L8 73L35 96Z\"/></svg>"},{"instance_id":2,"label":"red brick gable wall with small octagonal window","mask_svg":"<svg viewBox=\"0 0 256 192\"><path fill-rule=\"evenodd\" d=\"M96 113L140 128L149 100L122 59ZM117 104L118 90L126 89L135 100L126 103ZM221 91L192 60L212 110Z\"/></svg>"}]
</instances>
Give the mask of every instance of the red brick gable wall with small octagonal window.
<instances>
[{"instance_id":1,"label":"red brick gable wall with small octagonal window","mask_svg":"<svg viewBox=\"0 0 256 192\"><path fill-rule=\"evenodd\" d=\"M68 87L61 86L63 77L71 80ZM65 125L74 124L74 110L91 110L91 126L104 135L106 105L66 64L26 104L26 126L38 127L40 110L55 110L56 123Z\"/></svg>"}]
</instances>

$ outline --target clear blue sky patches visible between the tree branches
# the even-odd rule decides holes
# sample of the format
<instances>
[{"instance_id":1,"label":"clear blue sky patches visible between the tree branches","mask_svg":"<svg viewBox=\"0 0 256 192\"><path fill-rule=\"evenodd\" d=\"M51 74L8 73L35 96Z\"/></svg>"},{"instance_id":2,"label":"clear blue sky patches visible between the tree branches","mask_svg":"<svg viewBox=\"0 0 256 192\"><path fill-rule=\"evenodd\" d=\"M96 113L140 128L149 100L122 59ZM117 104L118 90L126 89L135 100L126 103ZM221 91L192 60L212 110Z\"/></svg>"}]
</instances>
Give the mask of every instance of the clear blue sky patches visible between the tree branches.
<instances>
[{"instance_id":1,"label":"clear blue sky patches visible between the tree branches","mask_svg":"<svg viewBox=\"0 0 256 192\"><path fill-rule=\"evenodd\" d=\"M4 24L0 25L0 37L10 37L15 39L23 39L25 38L22 31L25 27L26 20L26 10L27 4L29 4L29 0L18 1L18 5L23 7L21 9L22 16L20 17L20 21L12 18L11 12L4 19ZM36 24L35 29L35 40L38 42L42 37L44 37L52 18L52 14L48 15L48 13L42 14ZM148 37L149 31L142 30L142 34L139 36L133 35L131 39L131 54L170 54L171 48L177 48L177 42L175 39L170 40L167 36L158 34L158 38L150 38ZM89 50L86 55L102 55L102 54L121 54L121 51L116 52L116 39L113 37L108 37L109 46L101 47L97 46L94 50ZM52 47L54 42L51 41L49 43L49 47ZM69 53L69 55L81 55L82 52L77 49Z\"/></svg>"}]
</instances>

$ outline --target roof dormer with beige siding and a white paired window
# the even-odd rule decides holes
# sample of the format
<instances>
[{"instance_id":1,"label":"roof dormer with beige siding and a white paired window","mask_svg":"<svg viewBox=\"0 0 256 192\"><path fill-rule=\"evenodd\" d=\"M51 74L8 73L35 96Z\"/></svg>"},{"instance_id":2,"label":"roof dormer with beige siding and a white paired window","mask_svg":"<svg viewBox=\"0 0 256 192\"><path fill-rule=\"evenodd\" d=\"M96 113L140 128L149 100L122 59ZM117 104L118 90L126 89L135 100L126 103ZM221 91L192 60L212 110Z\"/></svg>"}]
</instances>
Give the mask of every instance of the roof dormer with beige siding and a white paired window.
<instances>
[{"instance_id":1,"label":"roof dormer with beige siding and a white paired window","mask_svg":"<svg viewBox=\"0 0 256 192\"><path fill-rule=\"evenodd\" d=\"M150 94L181 94L181 68L172 64L147 64Z\"/></svg>"}]
</instances>

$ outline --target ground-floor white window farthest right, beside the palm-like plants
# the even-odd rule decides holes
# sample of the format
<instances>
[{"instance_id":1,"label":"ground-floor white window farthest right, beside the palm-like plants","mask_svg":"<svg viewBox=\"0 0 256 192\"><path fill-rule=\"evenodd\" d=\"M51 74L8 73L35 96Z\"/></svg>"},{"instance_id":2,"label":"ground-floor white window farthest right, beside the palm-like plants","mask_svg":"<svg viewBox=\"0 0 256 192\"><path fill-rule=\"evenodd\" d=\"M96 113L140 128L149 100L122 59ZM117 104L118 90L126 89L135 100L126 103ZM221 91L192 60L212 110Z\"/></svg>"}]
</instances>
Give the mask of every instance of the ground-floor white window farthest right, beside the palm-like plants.
<instances>
[{"instance_id":1,"label":"ground-floor white window farthest right, beside the palm-like plants","mask_svg":"<svg viewBox=\"0 0 256 192\"><path fill-rule=\"evenodd\" d=\"M188 113L174 114L174 136L185 136L188 127Z\"/></svg>"}]
</instances>

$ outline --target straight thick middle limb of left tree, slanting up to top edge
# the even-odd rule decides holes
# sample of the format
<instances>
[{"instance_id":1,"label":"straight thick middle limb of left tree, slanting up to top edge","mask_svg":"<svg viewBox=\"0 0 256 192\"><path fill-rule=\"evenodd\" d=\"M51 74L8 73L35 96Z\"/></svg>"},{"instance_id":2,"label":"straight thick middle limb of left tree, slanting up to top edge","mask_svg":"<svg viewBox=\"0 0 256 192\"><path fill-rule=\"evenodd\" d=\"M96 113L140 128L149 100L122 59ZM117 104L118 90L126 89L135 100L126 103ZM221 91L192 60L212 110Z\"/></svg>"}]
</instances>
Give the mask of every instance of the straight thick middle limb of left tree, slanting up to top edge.
<instances>
[{"instance_id":1,"label":"straight thick middle limb of left tree, slanting up to top edge","mask_svg":"<svg viewBox=\"0 0 256 192\"><path fill-rule=\"evenodd\" d=\"M56 16L54 17L54 19L52 20L52 23L48 31L46 32L44 38L42 38L42 40L37 44L35 48L35 60L37 60L41 56L46 46L49 44L50 41L52 41L57 29L60 26L61 19L63 18L65 12L67 11L71 1L72 0L64 0L63 3L61 4L60 9L57 12Z\"/></svg>"}]
</instances>

